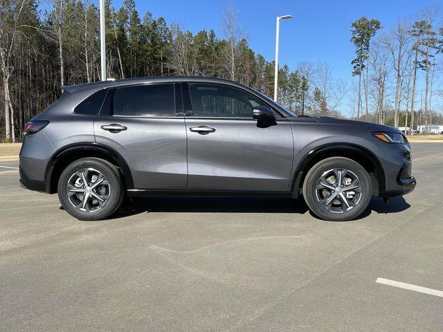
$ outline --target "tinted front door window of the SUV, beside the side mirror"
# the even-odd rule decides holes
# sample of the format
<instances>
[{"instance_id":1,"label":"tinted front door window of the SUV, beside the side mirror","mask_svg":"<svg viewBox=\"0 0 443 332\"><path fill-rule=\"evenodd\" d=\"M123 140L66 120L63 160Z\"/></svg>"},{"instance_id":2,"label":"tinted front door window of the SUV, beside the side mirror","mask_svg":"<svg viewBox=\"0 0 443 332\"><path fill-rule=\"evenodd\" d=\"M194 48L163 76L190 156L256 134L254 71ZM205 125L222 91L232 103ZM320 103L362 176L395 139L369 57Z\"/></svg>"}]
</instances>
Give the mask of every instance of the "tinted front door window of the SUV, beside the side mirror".
<instances>
[{"instance_id":1,"label":"tinted front door window of the SUV, beside the side mirror","mask_svg":"<svg viewBox=\"0 0 443 332\"><path fill-rule=\"evenodd\" d=\"M252 118L255 106L265 105L240 89L219 84L189 84L193 116Z\"/></svg>"}]
</instances>

